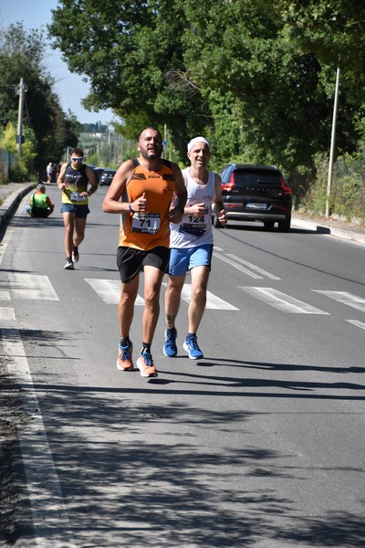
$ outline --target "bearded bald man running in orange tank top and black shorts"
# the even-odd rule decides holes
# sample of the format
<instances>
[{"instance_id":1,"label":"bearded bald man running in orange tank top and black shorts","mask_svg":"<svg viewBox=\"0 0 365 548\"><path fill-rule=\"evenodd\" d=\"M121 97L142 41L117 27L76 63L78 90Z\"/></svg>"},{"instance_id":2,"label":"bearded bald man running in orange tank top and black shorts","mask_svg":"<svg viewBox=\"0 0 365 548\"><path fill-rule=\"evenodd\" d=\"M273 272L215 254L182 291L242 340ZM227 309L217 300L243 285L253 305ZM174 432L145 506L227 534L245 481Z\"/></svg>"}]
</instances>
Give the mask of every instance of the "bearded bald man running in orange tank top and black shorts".
<instances>
[{"instance_id":1,"label":"bearded bald man running in orange tank top and black shorts","mask_svg":"<svg viewBox=\"0 0 365 548\"><path fill-rule=\"evenodd\" d=\"M183 174L176 163L162 159L162 135L153 127L141 132L140 156L120 165L105 196L102 209L120 214L117 264L121 293L118 307L120 347L117 367L131 371L130 326L140 272L144 272L142 348L137 360L141 376L157 376L151 343L160 314L160 291L170 257L170 222L180 223L186 203ZM172 198L175 206L171 209ZM121 201L120 201L121 198Z\"/></svg>"}]
</instances>

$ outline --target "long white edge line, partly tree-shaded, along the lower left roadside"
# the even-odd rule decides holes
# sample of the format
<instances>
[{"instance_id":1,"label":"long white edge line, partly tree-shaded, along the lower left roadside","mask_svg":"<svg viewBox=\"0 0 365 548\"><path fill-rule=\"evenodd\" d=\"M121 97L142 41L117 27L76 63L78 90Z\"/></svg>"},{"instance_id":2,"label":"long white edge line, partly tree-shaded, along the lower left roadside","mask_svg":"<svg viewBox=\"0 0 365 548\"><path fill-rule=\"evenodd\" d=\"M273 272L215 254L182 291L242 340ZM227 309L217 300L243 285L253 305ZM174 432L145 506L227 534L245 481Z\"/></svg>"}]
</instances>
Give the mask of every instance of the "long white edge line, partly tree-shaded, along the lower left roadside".
<instances>
[{"instance_id":1,"label":"long white edge line, partly tree-shaded, along the lower left roadside","mask_svg":"<svg viewBox=\"0 0 365 548\"><path fill-rule=\"evenodd\" d=\"M36 537L32 545L71 548L74 543L65 502L20 333L16 329L0 330L0 342L8 374L23 386L22 409L27 420L18 436Z\"/></svg>"}]
</instances>

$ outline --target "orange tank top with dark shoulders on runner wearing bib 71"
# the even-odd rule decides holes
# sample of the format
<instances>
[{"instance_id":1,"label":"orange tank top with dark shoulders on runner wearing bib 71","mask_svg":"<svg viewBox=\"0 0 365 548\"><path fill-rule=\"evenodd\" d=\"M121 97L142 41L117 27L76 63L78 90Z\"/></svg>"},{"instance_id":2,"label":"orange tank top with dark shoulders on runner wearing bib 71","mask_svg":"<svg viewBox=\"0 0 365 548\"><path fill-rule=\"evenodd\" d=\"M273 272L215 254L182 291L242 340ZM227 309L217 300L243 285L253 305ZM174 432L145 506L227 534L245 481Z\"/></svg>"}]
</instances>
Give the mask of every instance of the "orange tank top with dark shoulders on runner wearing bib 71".
<instances>
[{"instance_id":1,"label":"orange tank top with dark shoulders on runner wearing bib 71","mask_svg":"<svg viewBox=\"0 0 365 548\"><path fill-rule=\"evenodd\" d=\"M124 212L120 215L119 246L149 250L170 246L170 222L168 213L175 189L172 166L162 160L162 169L151 172L132 160L133 174L122 196L123 202L132 203L145 193L147 212L144 215Z\"/></svg>"}]
</instances>

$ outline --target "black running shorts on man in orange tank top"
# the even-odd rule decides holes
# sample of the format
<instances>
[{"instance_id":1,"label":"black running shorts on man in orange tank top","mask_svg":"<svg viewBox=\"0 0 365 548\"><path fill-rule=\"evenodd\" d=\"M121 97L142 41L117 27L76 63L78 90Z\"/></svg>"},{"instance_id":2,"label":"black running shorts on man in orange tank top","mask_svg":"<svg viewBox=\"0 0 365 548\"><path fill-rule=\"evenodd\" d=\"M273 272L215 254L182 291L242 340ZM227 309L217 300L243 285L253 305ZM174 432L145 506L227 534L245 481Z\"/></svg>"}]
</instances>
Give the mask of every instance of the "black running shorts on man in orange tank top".
<instances>
[{"instance_id":1,"label":"black running shorts on man in orange tank top","mask_svg":"<svg viewBox=\"0 0 365 548\"><path fill-rule=\"evenodd\" d=\"M127 248L121 246L117 252L117 266L120 271L120 281L128 283L135 278L143 267L155 267L165 272L169 264L170 248L142 249Z\"/></svg>"}]
</instances>

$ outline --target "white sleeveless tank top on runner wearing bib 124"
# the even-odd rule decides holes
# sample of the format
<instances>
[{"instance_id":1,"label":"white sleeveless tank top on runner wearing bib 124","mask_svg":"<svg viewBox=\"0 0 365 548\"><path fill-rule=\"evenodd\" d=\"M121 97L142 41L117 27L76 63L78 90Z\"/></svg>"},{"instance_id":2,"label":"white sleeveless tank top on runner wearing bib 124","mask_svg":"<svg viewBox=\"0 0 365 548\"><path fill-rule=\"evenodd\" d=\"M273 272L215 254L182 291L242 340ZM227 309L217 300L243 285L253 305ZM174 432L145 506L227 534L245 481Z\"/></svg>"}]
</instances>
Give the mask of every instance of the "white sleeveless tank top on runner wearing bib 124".
<instances>
[{"instance_id":1,"label":"white sleeveless tank top on runner wearing bib 124","mask_svg":"<svg viewBox=\"0 0 365 548\"><path fill-rule=\"evenodd\" d=\"M186 207L204 204L204 215L184 215L179 224L170 223L170 248L195 248L213 244L212 202L215 199L214 173L208 172L207 184L196 184L190 174L190 167L183 169L183 180L188 199Z\"/></svg>"}]
</instances>

